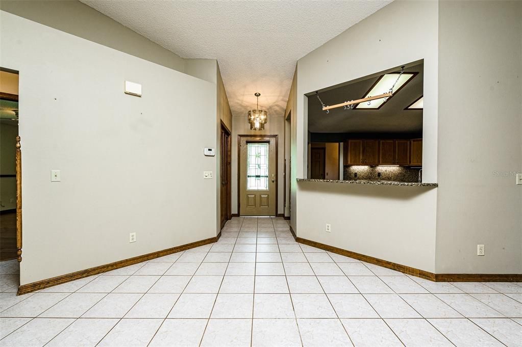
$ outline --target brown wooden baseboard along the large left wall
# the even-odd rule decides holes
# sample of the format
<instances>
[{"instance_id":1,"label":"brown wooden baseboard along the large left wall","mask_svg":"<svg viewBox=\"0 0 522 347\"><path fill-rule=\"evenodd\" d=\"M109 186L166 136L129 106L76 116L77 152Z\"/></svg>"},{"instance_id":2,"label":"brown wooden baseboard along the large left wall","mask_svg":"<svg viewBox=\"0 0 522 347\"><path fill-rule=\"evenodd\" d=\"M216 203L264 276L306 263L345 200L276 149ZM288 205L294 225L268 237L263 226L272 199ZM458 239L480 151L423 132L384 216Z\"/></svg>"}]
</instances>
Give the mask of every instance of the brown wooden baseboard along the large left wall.
<instances>
[{"instance_id":1,"label":"brown wooden baseboard along the large left wall","mask_svg":"<svg viewBox=\"0 0 522 347\"><path fill-rule=\"evenodd\" d=\"M110 264L91 267L90 269L71 272L70 274L56 276L53 278L49 278L49 279L45 279L45 280L41 280L41 281L37 281L37 282L22 284L20 287L18 287L17 295L27 294L27 293L33 292L35 290L40 290L40 289L57 286L58 284L74 281L74 280L89 277L92 275L98 275L98 274L101 274L102 272L107 272L107 271L119 269L119 268L122 268L125 266L149 261L150 259L159 258L159 257L169 255L172 253L186 251L186 250L189 250L189 249L192 249L195 247L199 247L199 246L203 246L203 245L206 245L209 243L216 242L220 236L221 236L221 232L218 234L217 237L187 243L187 244L184 244L181 246L172 247L172 248L162 250L162 251L152 252L152 253L148 253L148 254L144 254L144 255L138 255L133 258L128 258L128 259L124 259L124 260L117 261L117 262L110 263Z\"/></svg>"}]
</instances>

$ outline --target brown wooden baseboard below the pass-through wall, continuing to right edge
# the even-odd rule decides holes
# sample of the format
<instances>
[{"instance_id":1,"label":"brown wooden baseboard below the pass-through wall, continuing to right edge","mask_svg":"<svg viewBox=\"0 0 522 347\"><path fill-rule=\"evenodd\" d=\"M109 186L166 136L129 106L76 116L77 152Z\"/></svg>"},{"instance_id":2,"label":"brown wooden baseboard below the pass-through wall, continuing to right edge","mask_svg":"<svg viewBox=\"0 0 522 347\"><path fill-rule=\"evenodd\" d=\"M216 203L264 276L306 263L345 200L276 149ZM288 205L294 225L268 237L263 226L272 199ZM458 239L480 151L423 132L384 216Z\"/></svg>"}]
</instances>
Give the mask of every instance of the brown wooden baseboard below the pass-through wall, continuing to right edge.
<instances>
[{"instance_id":1,"label":"brown wooden baseboard below the pass-through wall, continuing to right edge","mask_svg":"<svg viewBox=\"0 0 522 347\"><path fill-rule=\"evenodd\" d=\"M344 255L353 259L382 266L388 269L396 270L407 275L416 276L428 279L434 282L521 282L522 274L434 274L433 272L420 270L414 267L401 265L385 261L383 259L375 258L369 255L364 255L352 251L343 250L334 246L329 246L324 243L319 243L311 240L295 237L295 233L290 227L290 231L294 234L295 241L316 247L328 252Z\"/></svg>"}]
</instances>

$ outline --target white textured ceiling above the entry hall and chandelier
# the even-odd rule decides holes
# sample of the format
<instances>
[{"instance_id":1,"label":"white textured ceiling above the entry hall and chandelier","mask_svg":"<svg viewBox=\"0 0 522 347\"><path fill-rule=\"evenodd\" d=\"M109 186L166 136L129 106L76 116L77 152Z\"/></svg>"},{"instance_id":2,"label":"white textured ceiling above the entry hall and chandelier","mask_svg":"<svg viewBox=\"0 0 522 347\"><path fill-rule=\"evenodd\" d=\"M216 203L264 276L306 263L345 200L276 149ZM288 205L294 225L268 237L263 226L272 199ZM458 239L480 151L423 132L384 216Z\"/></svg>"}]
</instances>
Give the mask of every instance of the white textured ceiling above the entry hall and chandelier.
<instances>
[{"instance_id":1,"label":"white textured ceiling above the entry hall and chandelier","mask_svg":"<svg viewBox=\"0 0 522 347\"><path fill-rule=\"evenodd\" d=\"M296 61L392 2L80 1L183 58L217 59L234 116L255 92L283 116Z\"/></svg>"}]
</instances>

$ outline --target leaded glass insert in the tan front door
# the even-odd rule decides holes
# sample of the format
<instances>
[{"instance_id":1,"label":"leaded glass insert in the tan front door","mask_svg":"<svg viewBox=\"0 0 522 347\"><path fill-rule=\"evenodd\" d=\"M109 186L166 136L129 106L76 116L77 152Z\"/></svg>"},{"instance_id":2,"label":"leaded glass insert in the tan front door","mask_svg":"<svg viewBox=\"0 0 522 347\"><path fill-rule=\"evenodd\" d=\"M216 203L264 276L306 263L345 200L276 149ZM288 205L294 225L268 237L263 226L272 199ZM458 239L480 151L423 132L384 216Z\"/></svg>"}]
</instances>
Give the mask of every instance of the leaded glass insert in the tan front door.
<instances>
[{"instance_id":1,"label":"leaded glass insert in the tan front door","mask_svg":"<svg viewBox=\"0 0 522 347\"><path fill-rule=\"evenodd\" d=\"M268 190L269 143L246 144L246 189Z\"/></svg>"}]
</instances>

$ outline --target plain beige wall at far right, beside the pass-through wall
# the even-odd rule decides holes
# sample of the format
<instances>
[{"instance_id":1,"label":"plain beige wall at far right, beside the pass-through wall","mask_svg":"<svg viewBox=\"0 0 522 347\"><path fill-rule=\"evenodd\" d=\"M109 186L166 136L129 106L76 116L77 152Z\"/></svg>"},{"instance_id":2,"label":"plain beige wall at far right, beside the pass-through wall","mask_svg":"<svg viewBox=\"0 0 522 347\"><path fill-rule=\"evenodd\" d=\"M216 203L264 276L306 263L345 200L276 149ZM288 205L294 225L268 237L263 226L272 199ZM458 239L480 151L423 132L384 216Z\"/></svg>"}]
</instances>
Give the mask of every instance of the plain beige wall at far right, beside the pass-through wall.
<instances>
[{"instance_id":1,"label":"plain beige wall at far right, beside the pass-through wall","mask_svg":"<svg viewBox=\"0 0 522 347\"><path fill-rule=\"evenodd\" d=\"M439 44L436 270L522 274L522 2L441 2Z\"/></svg>"}]
</instances>

